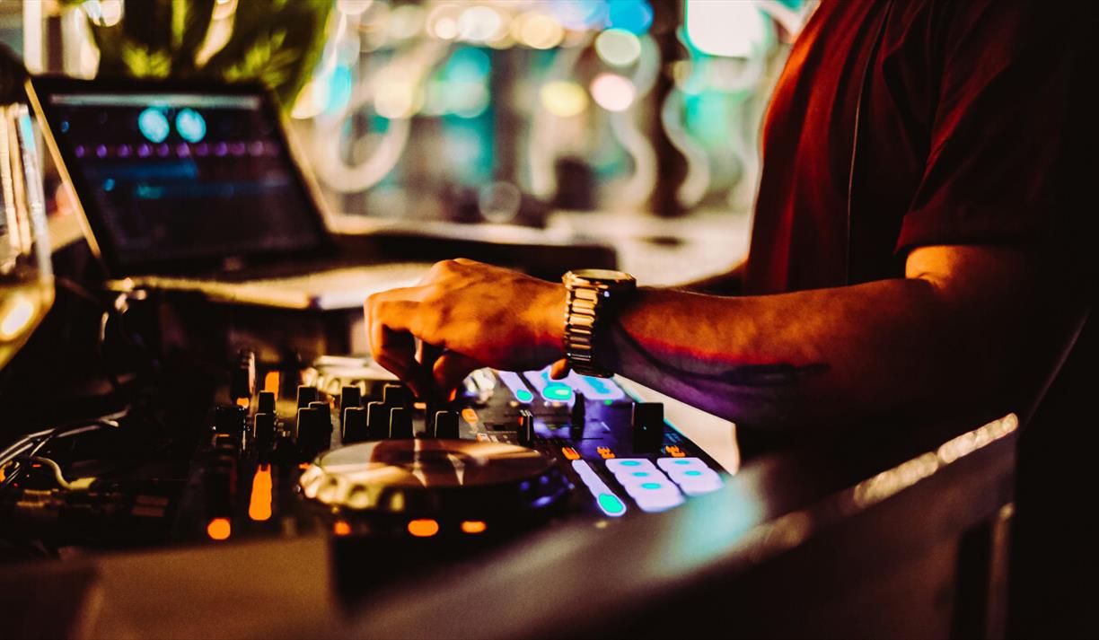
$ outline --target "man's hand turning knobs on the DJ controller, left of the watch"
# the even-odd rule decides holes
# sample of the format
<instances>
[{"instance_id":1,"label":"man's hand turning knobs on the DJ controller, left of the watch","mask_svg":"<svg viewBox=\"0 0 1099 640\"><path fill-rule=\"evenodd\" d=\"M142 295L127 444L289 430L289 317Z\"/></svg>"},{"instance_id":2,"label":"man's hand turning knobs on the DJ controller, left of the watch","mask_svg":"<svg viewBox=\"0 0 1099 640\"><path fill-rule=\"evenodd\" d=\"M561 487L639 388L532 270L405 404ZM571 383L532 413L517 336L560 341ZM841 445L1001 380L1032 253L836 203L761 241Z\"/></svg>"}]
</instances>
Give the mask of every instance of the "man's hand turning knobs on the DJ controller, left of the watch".
<instances>
[{"instance_id":1,"label":"man's hand turning knobs on the DJ controller, left of the watch","mask_svg":"<svg viewBox=\"0 0 1099 640\"><path fill-rule=\"evenodd\" d=\"M415 287L368 297L365 312L374 359L419 397L445 396L480 367L563 356L565 287L474 260L437 262Z\"/></svg>"}]
</instances>

